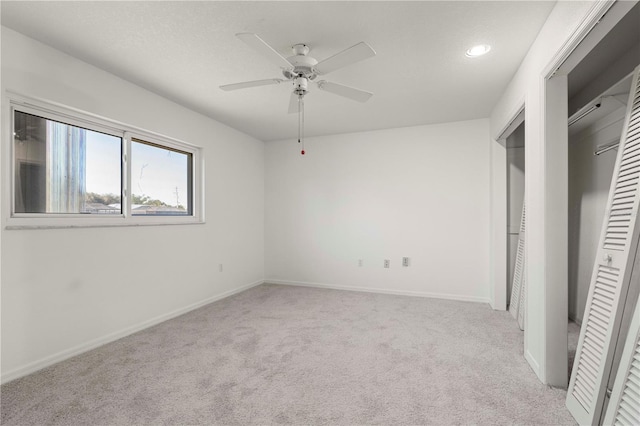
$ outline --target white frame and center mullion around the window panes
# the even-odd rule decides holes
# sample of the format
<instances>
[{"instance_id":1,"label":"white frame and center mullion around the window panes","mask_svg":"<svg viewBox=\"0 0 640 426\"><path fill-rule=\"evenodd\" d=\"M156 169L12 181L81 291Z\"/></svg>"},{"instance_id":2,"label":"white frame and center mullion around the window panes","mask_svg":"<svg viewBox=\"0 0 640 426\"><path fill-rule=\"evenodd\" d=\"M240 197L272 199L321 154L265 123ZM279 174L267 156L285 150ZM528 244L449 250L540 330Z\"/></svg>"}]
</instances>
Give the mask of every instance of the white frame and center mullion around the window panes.
<instances>
[{"instance_id":1,"label":"white frame and center mullion around the window panes","mask_svg":"<svg viewBox=\"0 0 640 426\"><path fill-rule=\"evenodd\" d=\"M2 164L3 180L10 185L3 185L3 216L6 229L38 229L38 228L84 228L84 227L109 227L109 226L144 226L144 225L178 225L204 223L204 155L203 148L177 139L163 136L148 130L140 129L124 123L119 123L87 112L79 111L64 105L30 98L24 95L7 92L5 99L9 106L8 112L4 112L5 128L9 132L4 134L4 147L2 149L4 162ZM67 123L106 133L122 138L121 158L121 213L116 215L100 214L48 214L48 213L16 213L15 211L15 141L14 125L15 112L20 111L36 115L45 119ZM6 116L8 115L8 117ZM131 141L138 139L191 154L192 173L192 211L190 215L155 216L131 214Z\"/></svg>"}]
</instances>

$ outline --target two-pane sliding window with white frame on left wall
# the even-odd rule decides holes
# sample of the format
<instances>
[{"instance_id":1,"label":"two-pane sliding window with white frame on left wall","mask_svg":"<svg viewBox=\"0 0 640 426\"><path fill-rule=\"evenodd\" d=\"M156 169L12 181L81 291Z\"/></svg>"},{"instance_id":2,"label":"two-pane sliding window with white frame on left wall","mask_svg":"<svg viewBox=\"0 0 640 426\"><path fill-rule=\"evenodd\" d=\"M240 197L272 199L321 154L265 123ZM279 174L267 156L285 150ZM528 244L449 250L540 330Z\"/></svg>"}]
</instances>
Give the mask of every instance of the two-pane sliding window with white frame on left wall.
<instances>
[{"instance_id":1,"label":"two-pane sliding window with white frame on left wall","mask_svg":"<svg viewBox=\"0 0 640 426\"><path fill-rule=\"evenodd\" d=\"M198 148L57 106L11 114L8 228L202 221Z\"/></svg>"}]
</instances>

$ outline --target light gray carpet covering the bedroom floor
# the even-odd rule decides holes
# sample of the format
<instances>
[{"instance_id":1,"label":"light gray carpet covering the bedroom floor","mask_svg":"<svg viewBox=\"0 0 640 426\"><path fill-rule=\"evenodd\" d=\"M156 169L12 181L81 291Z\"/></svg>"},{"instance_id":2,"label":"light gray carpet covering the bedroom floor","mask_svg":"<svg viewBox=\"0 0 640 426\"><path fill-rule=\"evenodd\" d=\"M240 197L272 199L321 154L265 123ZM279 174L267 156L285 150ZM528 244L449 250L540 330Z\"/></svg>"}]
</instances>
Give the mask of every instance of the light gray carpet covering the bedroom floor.
<instances>
[{"instance_id":1,"label":"light gray carpet covering the bedroom floor","mask_svg":"<svg viewBox=\"0 0 640 426\"><path fill-rule=\"evenodd\" d=\"M2 386L3 424L573 425L488 305L261 285Z\"/></svg>"}]
</instances>

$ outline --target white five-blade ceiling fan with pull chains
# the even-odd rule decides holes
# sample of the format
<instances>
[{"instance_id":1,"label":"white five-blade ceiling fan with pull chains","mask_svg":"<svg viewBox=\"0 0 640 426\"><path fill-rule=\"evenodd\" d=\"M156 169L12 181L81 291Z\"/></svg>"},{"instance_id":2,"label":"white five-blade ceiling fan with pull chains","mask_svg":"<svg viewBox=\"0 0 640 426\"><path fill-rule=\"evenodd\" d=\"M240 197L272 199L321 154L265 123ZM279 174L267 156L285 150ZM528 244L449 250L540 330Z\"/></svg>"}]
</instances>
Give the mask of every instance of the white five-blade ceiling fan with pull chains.
<instances>
[{"instance_id":1,"label":"white five-blade ceiling fan with pull chains","mask_svg":"<svg viewBox=\"0 0 640 426\"><path fill-rule=\"evenodd\" d=\"M246 89L249 87L267 86L292 82L293 90L289 101L289 113L297 112L298 118L298 142L303 140L304 128L304 103L303 98L309 92L309 82L315 81L318 76L329 74L332 71L346 67L355 62L362 61L376 55L376 52L365 42L360 42L335 55L318 62L309 56L309 46L306 44L295 44L291 47L293 55L285 58L278 53L267 42L253 33L236 34L240 40L249 47L264 55L272 63L282 69L284 78L269 78L266 80L246 81L243 83L225 84L220 89L225 91ZM373 93L342 84L331 83L326 80L315 81L318 89L333 93L358 102L366 102ZM302 150L304 155L304 148Z\"/></svg>"}]
</instances>

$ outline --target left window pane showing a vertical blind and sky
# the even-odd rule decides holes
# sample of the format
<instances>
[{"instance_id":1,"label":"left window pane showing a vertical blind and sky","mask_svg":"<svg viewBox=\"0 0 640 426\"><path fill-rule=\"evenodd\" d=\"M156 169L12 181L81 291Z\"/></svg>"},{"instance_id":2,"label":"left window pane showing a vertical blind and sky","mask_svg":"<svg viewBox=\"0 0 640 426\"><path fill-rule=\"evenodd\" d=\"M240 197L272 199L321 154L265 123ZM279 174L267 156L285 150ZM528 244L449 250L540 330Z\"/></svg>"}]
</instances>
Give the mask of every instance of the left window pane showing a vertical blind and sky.
<instances>
[{"instance_id":1,"label":"left window pane showing a vertical blind and sky","mask_svg":"<svg viewBox=\"0 0 640 426\"><path fill-rule=\"evenodd\" d=\"M14 120L15 213L122 213L121 137L18 110Z\"/></svg>"}]
</instances>

